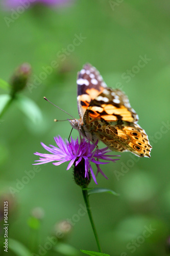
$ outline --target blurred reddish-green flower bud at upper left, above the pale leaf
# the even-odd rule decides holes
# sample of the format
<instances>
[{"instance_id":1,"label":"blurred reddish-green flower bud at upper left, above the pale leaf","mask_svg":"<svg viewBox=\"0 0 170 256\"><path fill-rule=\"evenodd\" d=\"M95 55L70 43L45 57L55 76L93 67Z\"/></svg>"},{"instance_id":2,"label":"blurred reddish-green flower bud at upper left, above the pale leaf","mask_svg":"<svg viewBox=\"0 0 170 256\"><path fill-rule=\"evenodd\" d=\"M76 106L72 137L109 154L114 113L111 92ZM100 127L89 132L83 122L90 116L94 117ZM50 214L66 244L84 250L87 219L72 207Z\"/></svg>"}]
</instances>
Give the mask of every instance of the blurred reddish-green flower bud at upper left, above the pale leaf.
<instances>
[{"instance_id":1,"label":"blurred reddish-green flower bud at upper left, above the pale leaf","mask_svg":"<svg viewBox=\"0 0 170 256\"><path fill-rule=\"evenodd\" d=\"M10 81L12 97L27 86L30 74L31 65L29 63L23 63L16 69Z\"/></svg>"}]
</instances>

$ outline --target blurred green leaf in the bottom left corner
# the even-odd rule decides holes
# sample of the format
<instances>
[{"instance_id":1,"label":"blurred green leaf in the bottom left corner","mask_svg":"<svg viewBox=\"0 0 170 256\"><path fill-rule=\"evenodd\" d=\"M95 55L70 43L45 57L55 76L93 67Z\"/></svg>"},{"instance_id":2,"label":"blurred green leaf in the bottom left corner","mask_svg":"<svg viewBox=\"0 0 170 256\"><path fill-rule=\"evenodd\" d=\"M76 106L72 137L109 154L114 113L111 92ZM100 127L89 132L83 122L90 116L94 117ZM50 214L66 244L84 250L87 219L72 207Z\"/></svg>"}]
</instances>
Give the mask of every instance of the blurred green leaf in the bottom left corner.
<instances>
[{"instance_id":1,"label":"blurred green leaf in the bottom left corner","mask_svg":"<svg viewBox=\"0 0 170 256\"><path fill-rule=\"evenodd\" d=\"M27 247L12 238L8 239L8 248L17 256L32 256L32 253L27 249Z\"/></svg>"}]
</instances>

